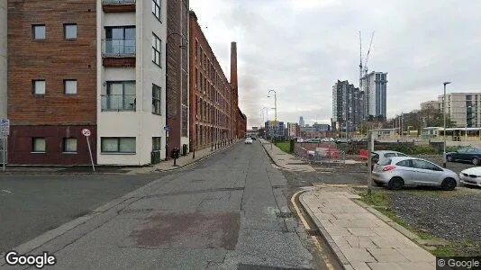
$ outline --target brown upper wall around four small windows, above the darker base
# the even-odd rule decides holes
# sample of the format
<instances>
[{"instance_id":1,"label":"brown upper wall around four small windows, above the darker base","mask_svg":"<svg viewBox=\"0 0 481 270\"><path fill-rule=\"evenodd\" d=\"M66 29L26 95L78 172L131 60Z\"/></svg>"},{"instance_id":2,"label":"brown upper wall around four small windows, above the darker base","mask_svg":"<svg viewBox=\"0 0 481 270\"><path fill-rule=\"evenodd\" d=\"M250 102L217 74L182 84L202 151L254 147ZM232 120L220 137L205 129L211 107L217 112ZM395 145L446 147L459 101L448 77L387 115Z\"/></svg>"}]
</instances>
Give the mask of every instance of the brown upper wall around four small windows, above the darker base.
<instances>
[{"instance_id":1,"label":"brown upper wall around four small windows, above the darker base","mask_svg":"<svg viewBox=\"0 0 481 270\"><path fill-rule=\"evenodd\" d=\"M95 124L95 0L8 0L8 118L13 125ZM77 40L64 39L64 23L77 23ZM46 39L32 40L32 24ZM44 79L46 94L32 94ZM77 94L64 94L77 79Z\"/></svg>"}]
</instances>

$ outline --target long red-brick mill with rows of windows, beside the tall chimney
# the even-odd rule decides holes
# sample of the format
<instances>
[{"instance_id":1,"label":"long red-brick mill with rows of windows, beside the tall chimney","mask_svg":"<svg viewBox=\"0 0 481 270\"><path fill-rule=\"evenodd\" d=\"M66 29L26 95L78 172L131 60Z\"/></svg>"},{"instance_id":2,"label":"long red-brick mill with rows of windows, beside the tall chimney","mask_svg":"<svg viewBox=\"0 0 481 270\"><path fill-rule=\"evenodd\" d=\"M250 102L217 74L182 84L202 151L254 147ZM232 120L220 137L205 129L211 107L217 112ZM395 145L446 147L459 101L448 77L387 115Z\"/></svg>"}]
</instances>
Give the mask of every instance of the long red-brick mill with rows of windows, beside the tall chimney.
<instances>
[{"instance_id":1,"label":"long red-brick mill with rows of windows, beside the tall chimney","mask_svg":"<svg viewBox=\"0 0 481 270\"><path fill-rule=\"evenodd\" d=\"M195 149L235 138L238 115L231 83L224 75L195 12L190 11L190 138Z\"/></svg>"}]
</instances>

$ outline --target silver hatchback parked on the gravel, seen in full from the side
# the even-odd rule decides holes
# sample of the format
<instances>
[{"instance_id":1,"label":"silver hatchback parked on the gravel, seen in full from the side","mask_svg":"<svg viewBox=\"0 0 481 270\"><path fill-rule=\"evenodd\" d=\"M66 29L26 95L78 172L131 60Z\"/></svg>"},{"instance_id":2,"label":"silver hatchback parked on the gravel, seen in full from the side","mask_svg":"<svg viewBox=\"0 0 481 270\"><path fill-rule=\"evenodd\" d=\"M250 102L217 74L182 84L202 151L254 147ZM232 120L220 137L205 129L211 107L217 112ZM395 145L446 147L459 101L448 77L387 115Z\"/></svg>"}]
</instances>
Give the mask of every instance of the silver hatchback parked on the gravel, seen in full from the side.
<instances>
[{"instance_id":1,"label":"silver hatchback parked on the gravel, seen in full from the side","mask_svg":"<svg viewBox=\"0 0 481 270\"><path fill-rule=\"evenodd\" d=\"M455 172L416 157L381 159L374 166L372 179L377 185L387 184L389 189L395 190L404 185L440 185L444 190L454 190L459 184Z\"/></svg>"}]
</instances>

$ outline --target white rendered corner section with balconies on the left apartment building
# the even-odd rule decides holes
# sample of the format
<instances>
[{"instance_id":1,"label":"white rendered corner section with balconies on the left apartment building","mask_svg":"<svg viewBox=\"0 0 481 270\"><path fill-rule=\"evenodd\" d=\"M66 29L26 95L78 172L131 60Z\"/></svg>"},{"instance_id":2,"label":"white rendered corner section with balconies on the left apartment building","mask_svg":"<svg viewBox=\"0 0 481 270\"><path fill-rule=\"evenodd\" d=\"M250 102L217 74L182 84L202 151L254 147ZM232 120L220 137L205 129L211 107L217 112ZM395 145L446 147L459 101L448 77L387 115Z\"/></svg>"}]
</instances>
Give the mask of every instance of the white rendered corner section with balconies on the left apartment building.
<instances>
[{"instance_id":1,"label":"white rendered corner section with balconies on the left apartment building","mask_svg":"<svg viewBox=\"0 0 481 270\"><path fill-rule=\"evenodd\" d=\"M165 158L167 1L113 1L134 7L119 12L105 2L97 1L97 163L150 164L153 152Z\"/></svg>"}]
</instances>

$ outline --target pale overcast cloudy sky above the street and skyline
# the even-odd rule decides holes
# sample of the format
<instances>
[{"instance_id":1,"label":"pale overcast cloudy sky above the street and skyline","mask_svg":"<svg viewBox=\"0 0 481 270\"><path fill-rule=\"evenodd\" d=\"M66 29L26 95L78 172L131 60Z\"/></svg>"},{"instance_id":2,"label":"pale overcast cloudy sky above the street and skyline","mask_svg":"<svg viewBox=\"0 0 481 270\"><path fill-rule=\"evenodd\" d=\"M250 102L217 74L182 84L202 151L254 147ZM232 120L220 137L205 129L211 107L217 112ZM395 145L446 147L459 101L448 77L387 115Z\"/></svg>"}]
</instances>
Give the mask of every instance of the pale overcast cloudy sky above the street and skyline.
<instances>
[{"instance_id":1,"label":"pale overcast cloudy sky above the street and skyline","mask_svg":"<svg viewBox=\"0 0 481 270\"><path fill-rule=\"evenodd\" d=\"M436 100L444 81L448 93L481 92L481 1L192 0L190 8L228 78L237 42L248 129L274 108L270 89L277 120L331 123L332 85L358 86L359 31L363 58L375 31L368 68L388 73L387 118Z\"/></svg>"}]
</instances>

